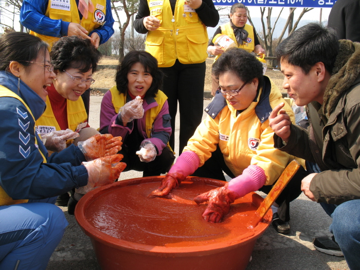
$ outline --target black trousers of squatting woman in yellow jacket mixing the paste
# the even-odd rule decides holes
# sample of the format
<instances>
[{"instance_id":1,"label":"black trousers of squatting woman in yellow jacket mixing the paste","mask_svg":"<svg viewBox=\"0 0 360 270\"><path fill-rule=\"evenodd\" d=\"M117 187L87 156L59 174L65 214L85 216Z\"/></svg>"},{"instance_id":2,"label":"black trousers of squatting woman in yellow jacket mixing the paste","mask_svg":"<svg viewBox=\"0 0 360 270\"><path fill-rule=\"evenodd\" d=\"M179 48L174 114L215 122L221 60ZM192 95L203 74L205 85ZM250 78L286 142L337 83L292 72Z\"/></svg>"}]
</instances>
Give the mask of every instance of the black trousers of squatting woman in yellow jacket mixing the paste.
<instances>
[{"instance_id":1,"label":"black trousers of squatting woman in yellow jacket mixing the paste","mask_svg":"<svg viewBox=\"0 0 360 270\"><path fill-rule=\"evenodd\" d=\"M217 147L217 150L215 150L211 157L205 161L205 164L202 167L199 167L192 175L226 181L224 172L229 177L235 178L235 175L233 175L226 166L220 148ZM279 205L278 215L282 221L290 221L290 202L294 201L301 194L301 180L307 175L309 175L309 173L301 166L289 184L287 184L280 193L278 199L276 199L275 202ZM259 191L268 194L274 185L262 186Z\"/></svg>"}]
</instances>

